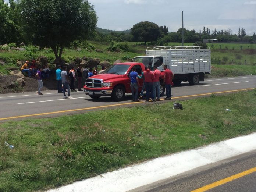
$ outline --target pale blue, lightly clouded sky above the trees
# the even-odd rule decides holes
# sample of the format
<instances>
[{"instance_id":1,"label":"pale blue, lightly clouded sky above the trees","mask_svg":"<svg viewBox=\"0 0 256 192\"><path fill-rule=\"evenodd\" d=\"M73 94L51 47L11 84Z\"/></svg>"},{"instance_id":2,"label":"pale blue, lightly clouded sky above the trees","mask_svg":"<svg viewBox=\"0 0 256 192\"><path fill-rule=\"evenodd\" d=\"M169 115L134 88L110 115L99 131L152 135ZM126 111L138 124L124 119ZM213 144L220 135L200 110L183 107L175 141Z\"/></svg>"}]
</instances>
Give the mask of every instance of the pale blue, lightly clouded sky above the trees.
<instances>
[{"instance_id":1,"label":"pale blue, lightly clouded sky above the trees","mask_svg":"<svg viewBox=\"0 0 256 192\"><path fill-rule=\"evenodd\" d=\"M8 0L4 0L8 1ZM169 32L184 27L199 32L205 26L212 31L244 28L247 35L256 32L256 0L88 0L97 13L97 26L122 31L141 21L166 25Z\"/></svg>"}]
</instances>

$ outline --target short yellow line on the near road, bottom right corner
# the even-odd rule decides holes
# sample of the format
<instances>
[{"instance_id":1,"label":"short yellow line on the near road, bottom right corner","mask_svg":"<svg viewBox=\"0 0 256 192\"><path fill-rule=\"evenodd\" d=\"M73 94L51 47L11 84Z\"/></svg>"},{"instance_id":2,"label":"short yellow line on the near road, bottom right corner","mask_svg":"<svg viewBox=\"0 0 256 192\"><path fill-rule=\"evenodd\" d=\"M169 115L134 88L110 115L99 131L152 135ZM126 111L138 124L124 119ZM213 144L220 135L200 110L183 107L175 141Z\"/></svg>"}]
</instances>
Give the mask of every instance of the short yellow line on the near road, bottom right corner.
<instances>
[{"instance_id":1,"label":"short yellow line on the near road, bottom right corner","mask_svg":"<svg viewBox=\"0 0 256 192\"><path fill-rule=\"evenodd\" d=\"M240 178L240 177L243 177L243 176L245 176L245 175L251 174L251 173L253 173L253 172L255 172L255 171L256 171L256 167L253 167L253 168L251 168L251 169L249 169L249 170L246 170L246 171L243 171L243 172L241 172L241 173L232 175L232 176L230 176L230 177L227 177L227 178L225 178L225 179L222 179L222 180L220 180L220 181L214 182L214 183L212 183L212 184L203 186L203 187L201 187L201 188L199 188L199 189L196 189L196 190L194 190L194 191L191 191L191 192L203 192L203 191L207 191L207 190L209 190L209 189L215 188L215 187L220 186L220 185L223 185L223 184L225 184L225 183L227 183L227 182L230 182L230 181L233 181L233 180L238 179L238 178Z\"/></svg>"}]
</instances>

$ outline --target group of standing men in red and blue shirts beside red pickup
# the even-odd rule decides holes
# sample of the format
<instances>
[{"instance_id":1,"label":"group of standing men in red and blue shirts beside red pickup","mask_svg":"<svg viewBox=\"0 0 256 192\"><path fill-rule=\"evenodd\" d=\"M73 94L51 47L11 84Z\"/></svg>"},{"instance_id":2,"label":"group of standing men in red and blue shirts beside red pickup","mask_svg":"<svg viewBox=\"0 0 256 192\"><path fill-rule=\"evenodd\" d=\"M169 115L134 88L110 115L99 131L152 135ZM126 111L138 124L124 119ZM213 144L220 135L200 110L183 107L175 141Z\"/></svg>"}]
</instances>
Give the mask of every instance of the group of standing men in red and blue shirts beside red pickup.
<instances>
[{"instance_id":1,"label":"group of standing men in red and blue shirts beside red pickup","mask_svg":"<svg viewBox=\"0 0 256 192\"><path fill-rule=\"evenodd\" d=\"M174 77L173 72L167 68L167 65L164 65L164 76L163 82L166 88L166 98L165 100L171 99L171 83ZM161 71L157 69L157 66L154 66L154 71L151 71L151 66L145 67L145 71L142 72L141 76L138 75L135 68L132 68L130 73L131 80L131 93L132 101L138 102L138 87L139 78L144 78L144 83L142 87L141 94L139 99L143 97L143 92L146 89L146 102L149 102L149 97L151 97L151 102L156 102L160 100L160 78ZM157 95L156 95L157 94ZM157 99L156 99L157 96Z\"/></svg>"}]
</instances>

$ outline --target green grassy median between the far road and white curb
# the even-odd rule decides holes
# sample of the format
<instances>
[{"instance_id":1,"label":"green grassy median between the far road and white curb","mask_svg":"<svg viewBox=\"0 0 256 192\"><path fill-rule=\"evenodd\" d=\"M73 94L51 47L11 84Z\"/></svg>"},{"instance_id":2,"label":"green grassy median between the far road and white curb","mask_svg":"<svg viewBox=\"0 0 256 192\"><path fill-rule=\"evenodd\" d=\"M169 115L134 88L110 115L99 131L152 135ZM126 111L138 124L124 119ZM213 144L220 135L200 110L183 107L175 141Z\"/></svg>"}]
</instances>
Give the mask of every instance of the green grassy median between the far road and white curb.
<instances>
[{"instance_id":1,"label":"green grassy median between the far road and white curb","mask_svg":"<svg viewBox=\"0 0 256 192\"><path fill-rule=\"evenodd\" d=\"M256 90L180 103L1 123L0 191L54 188L256 131Z\"/></svg>"}]
</instances>

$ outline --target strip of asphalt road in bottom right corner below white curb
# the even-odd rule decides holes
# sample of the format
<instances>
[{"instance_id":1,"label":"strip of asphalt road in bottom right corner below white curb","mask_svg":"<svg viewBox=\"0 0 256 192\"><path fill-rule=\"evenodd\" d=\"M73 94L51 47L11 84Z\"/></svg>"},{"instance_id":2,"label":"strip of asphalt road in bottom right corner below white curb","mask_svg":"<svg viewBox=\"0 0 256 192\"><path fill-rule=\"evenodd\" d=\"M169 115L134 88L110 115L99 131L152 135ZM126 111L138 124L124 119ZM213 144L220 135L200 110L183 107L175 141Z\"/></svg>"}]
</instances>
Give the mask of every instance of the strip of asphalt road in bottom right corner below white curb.
<instances>
[{"instance_id":1,"label":"strip of asphalt road in bottom right corner below white curb","mask_svg":"<svg viewBox=\"0 0 256 192\"><path fill-rule=\"evenodd\" d=\"M250 174L248 170L254 171ZM234 175L241 177L236 178ZM242 176L244 175L244 176ZM231 180L227 182L228 180ZM189 192L194 191L235 191L235 192L255 192L256 191L256 154L235 159L229 163L202 171L178 179L166 182L164 185L157 186L146 192ZM211 184L211 186L209 186ZM218 185L218 186L217 186ZM202 187L205 187L202 189ZM213 188L210 188L213 187ZM207 190L208 189L208 190Z\"/></svg>"}]
</instances>

